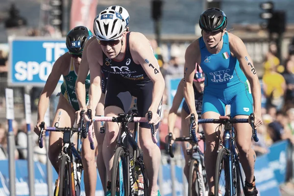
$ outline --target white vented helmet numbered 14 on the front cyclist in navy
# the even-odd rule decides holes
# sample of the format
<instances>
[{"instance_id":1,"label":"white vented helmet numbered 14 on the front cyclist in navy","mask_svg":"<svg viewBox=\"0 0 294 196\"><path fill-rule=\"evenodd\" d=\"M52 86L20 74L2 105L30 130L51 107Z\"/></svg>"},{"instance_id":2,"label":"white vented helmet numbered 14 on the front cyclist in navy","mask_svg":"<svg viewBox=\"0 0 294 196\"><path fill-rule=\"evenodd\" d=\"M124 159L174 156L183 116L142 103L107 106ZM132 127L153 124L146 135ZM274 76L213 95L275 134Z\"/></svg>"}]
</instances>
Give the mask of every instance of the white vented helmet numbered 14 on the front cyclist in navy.
<instances>
[{"instance_id":1,"label":"white vented helmet numbered 14 on the front cyclist in navy","mask_svg":"<svg viewBox=\"0 0 294 196\"><path fill-rule=\"evenodd\" d=\"M103 10L94 20L94 33L98 40L118 40L123 35L125 22L114 10Z\"/></svg>"}]
</instances>

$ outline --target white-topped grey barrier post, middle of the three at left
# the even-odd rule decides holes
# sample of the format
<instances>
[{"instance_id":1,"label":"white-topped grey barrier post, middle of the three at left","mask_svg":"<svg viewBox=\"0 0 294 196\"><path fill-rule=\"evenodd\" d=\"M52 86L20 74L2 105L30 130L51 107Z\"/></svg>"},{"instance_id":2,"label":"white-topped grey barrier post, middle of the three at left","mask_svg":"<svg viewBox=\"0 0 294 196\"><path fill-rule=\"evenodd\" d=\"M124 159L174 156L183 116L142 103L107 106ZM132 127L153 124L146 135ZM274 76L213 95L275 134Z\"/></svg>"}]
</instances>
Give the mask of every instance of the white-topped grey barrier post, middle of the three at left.
<instances>
[{"instance_id":1,"label":"white-topped grey barrier post, middle of the three at left","mask_svg":"<svg viewBox=\"0 0 294 196\"><path fill-rule=\"evenodd\" d=\"M27 130L27 171L28 171L28 188L29 195L35 196L35 171L34 171L34 159L33 159L33 139L31 132L31 104L30 96L25 94L25 123Z\"/></svg>"}]
</instances>

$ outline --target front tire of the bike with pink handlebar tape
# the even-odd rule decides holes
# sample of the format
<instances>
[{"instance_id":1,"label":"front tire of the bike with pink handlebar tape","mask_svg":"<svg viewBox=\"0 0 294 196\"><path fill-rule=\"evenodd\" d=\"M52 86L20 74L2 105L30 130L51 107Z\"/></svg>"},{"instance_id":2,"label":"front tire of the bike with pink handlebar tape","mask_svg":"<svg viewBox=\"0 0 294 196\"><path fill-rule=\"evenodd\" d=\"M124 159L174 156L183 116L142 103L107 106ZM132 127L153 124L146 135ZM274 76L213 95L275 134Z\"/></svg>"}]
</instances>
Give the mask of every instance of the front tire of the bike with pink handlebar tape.
<instances>
[{"instance_id":1,"label":"front tire of the bike with pink handlebar tape","mask_svg":"<svg viewBox=\"0 0 294 196\"><path fill-rule=\"evenodd\" d=\"M123 157L123 159L122 159ZM122 161L122 168L120 168L120 158ZM122 147L118 147L115 151L114 154L114 159L113 159L113 166L112 166L112 173L111 173L111 196L116 196L116 185L117 185L117 174L119 174L118 169L120 168L120 171L122 171L123 173L123 191L124 191L124 196L128 196L129 195L129 190L128 190L128 177L125 178L125 176L128 175L128 167L125 161L125 157L124 157L124 150ZM119 174L120 175L120 174ZM121 178L121 176L120 176ZM121 184L120 184L121 186ZM122 190L120 190L120 195L122 194Z\"/></svg>"}]
</instances>

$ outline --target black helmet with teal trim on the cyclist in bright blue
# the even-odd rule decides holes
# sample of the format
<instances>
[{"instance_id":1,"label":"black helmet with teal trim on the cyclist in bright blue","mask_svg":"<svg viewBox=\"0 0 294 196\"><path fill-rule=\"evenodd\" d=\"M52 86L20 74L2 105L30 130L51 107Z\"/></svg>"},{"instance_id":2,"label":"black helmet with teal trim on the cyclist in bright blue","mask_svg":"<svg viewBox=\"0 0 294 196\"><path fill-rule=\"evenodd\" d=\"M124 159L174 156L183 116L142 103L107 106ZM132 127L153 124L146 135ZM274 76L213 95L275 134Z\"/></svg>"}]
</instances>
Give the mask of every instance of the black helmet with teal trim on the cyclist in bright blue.
<instances>
[{"instance_id":1,"label":"black helmet with teal trim on the cyclist in bright blue","mask_svg":"<svg viewBox=\"0 0 294 196\"><path fill-rule=\"evenodd\" d=\"M209 8L202 12L199 26L204 31L220 31L227 25L227 17L219 8Z\"/></svg>"}]
</instances>

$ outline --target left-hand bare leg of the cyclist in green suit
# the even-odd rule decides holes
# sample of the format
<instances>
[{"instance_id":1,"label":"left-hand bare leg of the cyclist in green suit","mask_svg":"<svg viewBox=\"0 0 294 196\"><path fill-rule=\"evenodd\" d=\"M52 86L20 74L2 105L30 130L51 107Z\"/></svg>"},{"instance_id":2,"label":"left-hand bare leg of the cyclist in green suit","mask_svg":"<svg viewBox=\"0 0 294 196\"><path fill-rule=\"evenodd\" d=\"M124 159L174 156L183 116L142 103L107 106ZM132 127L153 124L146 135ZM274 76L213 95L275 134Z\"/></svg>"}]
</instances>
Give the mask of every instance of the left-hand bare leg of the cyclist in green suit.
<instances>
[{"instance_id":1,"label":"left-hand bare leg of the cyclist in green suit","mask_svg":"<svg viewBox=\"0 0 294 196\"><path fill-rule=\"evenodd\" d=\"M51 126L54 126L56 122L59 123L59 127L72 127L75 120L75 111L70 105L68 100L60 95L58 105L56 108L55 116ZM49 149L48 156L49 160L56 170L59 172L58 155L62 149L63 133L61 132L50 132L49 135Z\"/></svg>"}]
</instances>

